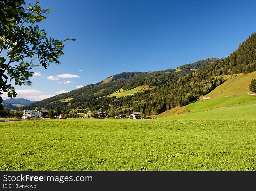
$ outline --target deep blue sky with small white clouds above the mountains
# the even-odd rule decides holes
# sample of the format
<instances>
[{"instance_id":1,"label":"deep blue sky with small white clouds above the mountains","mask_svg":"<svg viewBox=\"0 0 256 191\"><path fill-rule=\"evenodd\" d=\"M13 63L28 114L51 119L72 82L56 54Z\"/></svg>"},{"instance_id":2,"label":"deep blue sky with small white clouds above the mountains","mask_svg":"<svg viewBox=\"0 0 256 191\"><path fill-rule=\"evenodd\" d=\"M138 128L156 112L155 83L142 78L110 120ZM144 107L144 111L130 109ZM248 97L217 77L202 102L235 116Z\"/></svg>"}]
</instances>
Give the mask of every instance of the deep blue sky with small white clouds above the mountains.
<instances>
[{"instance_id":1,"label":"deep blue sky with small white clouds above the mountains","mask_svg":"<svg viewBox=\"0 0 256 191\"><path fill-rule=\"evenodd\" d=\"M256 32L256 1L43 0L39 5L52 10L39 24L48 37L77 40L65 42L61 65L34 67L32 85L15 86L17 98L32 101L125 71L225 58Z\"/></svg>"}]
</instances>

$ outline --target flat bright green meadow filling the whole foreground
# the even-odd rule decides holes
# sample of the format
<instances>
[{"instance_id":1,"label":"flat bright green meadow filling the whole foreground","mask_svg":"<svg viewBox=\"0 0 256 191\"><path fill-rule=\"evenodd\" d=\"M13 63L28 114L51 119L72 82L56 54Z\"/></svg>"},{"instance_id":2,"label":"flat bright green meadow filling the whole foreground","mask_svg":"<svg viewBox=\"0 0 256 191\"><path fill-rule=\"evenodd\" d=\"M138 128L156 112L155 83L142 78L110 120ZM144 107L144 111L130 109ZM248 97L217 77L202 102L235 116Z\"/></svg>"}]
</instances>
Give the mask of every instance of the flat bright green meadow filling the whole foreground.
<instances>
[{"instance_id":1,"label":"flat bright green meadow filling the whole foreground","mask_svg":"<svg viewBox=\"0 0 256 191\"><path fill-rule=\"evenodd\" d=\"M1 123L1 170L255 170L255 117L241 113Z\"/></svg>"}]
</instances>

